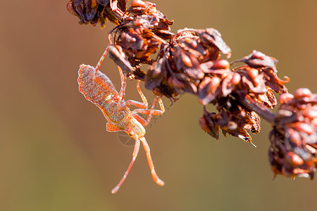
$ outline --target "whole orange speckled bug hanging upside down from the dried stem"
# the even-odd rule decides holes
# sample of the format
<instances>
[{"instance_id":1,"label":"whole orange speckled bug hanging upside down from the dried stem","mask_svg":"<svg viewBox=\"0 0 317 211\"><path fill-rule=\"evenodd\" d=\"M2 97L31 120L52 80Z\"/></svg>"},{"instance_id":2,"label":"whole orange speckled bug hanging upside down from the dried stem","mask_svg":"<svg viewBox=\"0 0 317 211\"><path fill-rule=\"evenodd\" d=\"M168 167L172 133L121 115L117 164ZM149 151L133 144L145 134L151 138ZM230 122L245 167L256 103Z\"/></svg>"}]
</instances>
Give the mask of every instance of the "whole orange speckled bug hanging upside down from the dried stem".
<instances>
[{"instance_id":1,"label":"whole orange speckled bug hanging upside down from the dried stem","mask_svg":"<svg viewBox=\"0 0 317 211\"><path fill-rule=\"evenodd\" d=\"M140 143L142 143L144 151L147 154L147 161L149 163L149 168L151 170L151 175L156 184L160 186L164 185L164 182L159 179L155 170L154 164L150 154L149 144L144 138L145 129L143 126L147 126L151 120L152 115L162 115L165 111L161 97L156 96L151 106L151 109L148 109L147 98L145 98L142 93L139 84L137 82L137 91L142 98L142 102L128 100L125 101L125 87L126 87L126 73L123 73L120 66L118 66L120 79L121 79L121 89L116 91L116 88L113 86L111 80L104 75L104 73L99 71L99 67L104 60L106 53L108 52L108 47L104 54L101 56L99 63L96 68L93 68L90 65L80 65L80 70L78 71L78 84L80 92L85 96L85 98L96 106L98 106L101 112L106 117L106 129L108 132L126 132L132 139L135 139L135 148L132 153L132 160L126 170L123 178L119 181L118 185L113 188L111 193L116 193L120 186L125 181L125 178L128 176L137 154L139 152ZM155 110L154 106L159 102L161 110ZM130 106L136 106L135 110L130 110ZM144 114L149 115L147 120L138 115Z\"/></svg>"}]
</instances>

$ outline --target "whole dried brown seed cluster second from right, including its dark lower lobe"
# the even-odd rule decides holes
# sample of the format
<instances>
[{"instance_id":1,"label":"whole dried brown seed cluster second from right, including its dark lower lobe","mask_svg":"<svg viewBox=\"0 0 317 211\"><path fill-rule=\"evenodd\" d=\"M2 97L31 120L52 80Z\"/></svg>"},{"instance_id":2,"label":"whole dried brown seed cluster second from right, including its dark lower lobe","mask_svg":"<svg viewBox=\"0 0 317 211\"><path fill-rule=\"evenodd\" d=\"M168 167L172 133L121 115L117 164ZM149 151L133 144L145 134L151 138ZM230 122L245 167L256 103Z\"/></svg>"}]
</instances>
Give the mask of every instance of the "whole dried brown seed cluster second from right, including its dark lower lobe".
<instances>
[{"instance_id":1,"label":"whole dried brown seed cluster second from right, including its dark lower lobe","mask_svg":"<svg viewBox=\"0 0 317 211\"><path fill-rule=\"evenodd\" d=\"M276 75L276 60L259 51L237 60L246 65L230 70L226 60L211 62L208 75L199 84L199 102L203 105L213 103L218 113L209 113L204 109L199 124L205 132L218 139L218 127L223 134L237 136L251 142L247 130L254 134L260 132L260 117L253 109L244 105L244 99L259 103L268 108L276 106L273 94L287 91L283 81ZM220 65L222 64L222 65Z\"/></svg>"}]
</instances>

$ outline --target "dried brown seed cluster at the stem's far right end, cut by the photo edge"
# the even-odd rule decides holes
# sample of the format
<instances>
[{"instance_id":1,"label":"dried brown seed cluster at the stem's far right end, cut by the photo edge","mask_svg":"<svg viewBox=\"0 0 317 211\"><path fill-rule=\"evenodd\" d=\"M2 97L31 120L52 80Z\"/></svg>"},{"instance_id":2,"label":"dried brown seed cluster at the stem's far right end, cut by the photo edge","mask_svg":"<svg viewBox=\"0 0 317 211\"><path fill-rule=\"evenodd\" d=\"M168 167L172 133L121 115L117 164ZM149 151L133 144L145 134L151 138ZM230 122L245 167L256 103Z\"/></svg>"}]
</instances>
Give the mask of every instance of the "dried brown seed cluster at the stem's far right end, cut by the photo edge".
<instances>
[{"instance_id":1,"label":"dried brown seed cluster at the stem's far right end, cut by the photo edge","mask_svg":"<svg viewBox=\"0 0 317 211\"><path fill-rule=\"evenodd\" d=\"M297 89L280 96L268 151L272 171L287 177L310 177L317 165L317 94Z\"/></svg>"}]
</instances>

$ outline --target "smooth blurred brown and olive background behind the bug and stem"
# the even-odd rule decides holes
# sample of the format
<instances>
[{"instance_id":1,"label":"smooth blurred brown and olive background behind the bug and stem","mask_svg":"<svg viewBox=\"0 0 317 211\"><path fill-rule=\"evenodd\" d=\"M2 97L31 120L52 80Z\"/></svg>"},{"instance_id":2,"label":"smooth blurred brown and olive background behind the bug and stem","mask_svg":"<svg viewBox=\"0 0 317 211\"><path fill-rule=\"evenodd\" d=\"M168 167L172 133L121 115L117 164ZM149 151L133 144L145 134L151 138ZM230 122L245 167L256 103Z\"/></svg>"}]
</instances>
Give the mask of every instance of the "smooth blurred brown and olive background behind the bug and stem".
<instances>
[{"instance_id":1,"label":"smooth blurred brown and olive background behind the bug and stem","mask_svg":"<svg viewBox=\"0 0 317 211\"><path fill-rule=\"evenodd\" d=\"M185 95L147 127L154 165L166 185L151 179L140 151L120 191L131 144L106 132L100 110L77 88L80 64L96 65L108 44L99 26L78 25L64 1L1 1L0 210L315 210L317 181L287 179L268 164L262 122L244 141L205 134L202 106ZM290 92L316 92L317 1L160 0L172 31L214 27L242 58L254 49L278 58ZM120 84L108 58L101 66ZM144 86L142 84L142 89ZM145 91L145 90L144 90ZM127 98L140 100L135 82ZM145 95L153 100L151 91ZM212 106L209 110L212 110Z\"/></svg>"}]
</instances>

